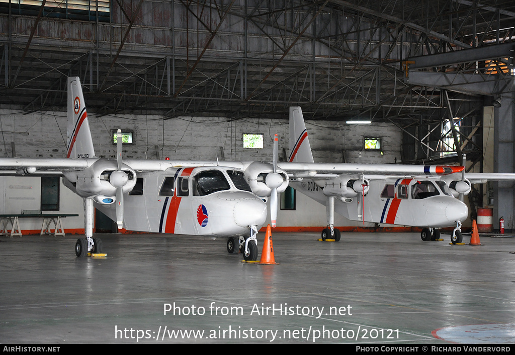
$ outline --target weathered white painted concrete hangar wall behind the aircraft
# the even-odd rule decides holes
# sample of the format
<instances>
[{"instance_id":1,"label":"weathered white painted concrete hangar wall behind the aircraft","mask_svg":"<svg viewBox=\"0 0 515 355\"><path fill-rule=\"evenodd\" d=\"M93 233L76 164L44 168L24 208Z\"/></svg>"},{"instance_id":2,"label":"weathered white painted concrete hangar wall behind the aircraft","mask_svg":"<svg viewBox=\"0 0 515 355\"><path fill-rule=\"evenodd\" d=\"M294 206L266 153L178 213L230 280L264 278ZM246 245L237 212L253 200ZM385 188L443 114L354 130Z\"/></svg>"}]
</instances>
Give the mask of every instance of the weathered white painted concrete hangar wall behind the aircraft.
<instances>
[{"instance_id":1,"label":"weathered white painted concrete hangar wall behind the aircraft","mask_svg":"<svg viewBox=\"0 0 515 355\"><path fill-rule=\"evenodd\" d=\"M196 159L271 160L272 137L279 135L279 155L283 160L288 149L288 118L284 120L229 120L224 117L180 117L163 120L160 116L110 115L89 113L89 121L99 157L115 157L111 130L122 128L134 133L134 143L124 146L124 157L133 159ZM0 110L4 143L0 155L17 157L65 157L66 112L23 112ZM401 132L392 124L347 125L337 121L306 121L316 162L394 163L401 161ZM264 135L263 149L244 149L243 134ZM383 154L364 151L365 137L382 139ZM41 177L0 177L0 211L20 213L22 209L41 206ZM296 210L279 209L278 227L321 227L327 224L325 207L296 194ZM82 199L60 186L59 212L78 214L64 220L67 232L83 233ZM22 229L39 233L41 220L24 219ZM335 225L353 226L363 223L335 215ZM366 225L372 225L366 223ZM317 229L318 230L318 229Z\"/></svg>"}]
</instances>

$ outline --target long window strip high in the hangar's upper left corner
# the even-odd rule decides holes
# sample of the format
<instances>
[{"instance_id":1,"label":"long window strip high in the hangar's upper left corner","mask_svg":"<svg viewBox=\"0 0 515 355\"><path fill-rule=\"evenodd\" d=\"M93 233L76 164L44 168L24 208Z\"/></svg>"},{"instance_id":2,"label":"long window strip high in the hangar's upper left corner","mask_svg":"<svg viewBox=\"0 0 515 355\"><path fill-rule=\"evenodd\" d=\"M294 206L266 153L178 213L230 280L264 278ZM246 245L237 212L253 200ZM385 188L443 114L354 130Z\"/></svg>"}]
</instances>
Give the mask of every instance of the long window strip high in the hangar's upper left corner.
<instances>
[{"instance_id":1,"label":"long window strip high in the hangar's upper left corner","mask_svg":"<svg viewBox=\"0 0 515 355\"><path fill-rule=\"evenodd\" d=\"M11 13L37 16L42 0L11 0ZM110 0L46 0L42 16L82 21L109 22ZM0 12L9 13L9 0L0 0Z\"/></svg>"}]
</instances>

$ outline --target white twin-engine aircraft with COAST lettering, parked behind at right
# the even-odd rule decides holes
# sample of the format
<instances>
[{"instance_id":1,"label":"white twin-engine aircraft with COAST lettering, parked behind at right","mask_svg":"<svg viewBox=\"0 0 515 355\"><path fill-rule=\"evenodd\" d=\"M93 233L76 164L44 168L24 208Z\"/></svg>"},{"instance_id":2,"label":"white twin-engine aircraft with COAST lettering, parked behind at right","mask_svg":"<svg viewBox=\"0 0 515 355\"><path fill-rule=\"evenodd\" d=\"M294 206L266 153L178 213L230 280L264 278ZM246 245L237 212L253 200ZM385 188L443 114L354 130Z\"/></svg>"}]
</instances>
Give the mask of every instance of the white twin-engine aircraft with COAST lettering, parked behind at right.
<instances>
[{"instance_id":1,"label":"white twin-engine aircraft with COAST lettering, parked behind at right","mask_svg":"<svg viewBox=\"0 0 515 355\"><path fill-rule=\"evenodd\" d=\"M438 228L455 226L451 241L461 243L461 222L469 214L462 201L471 184L515 180L512 173L465 173L463 166L319 164L317 168L300 107L290 107L289 125L289 162L298 164L298 173L293 165L279 166L293 173L292 187L327 207L328 228L322 239L340 239L334 228L336 210L353 221L423 227L422 240L435 240Z\"/></svg>"}]
</instances>

